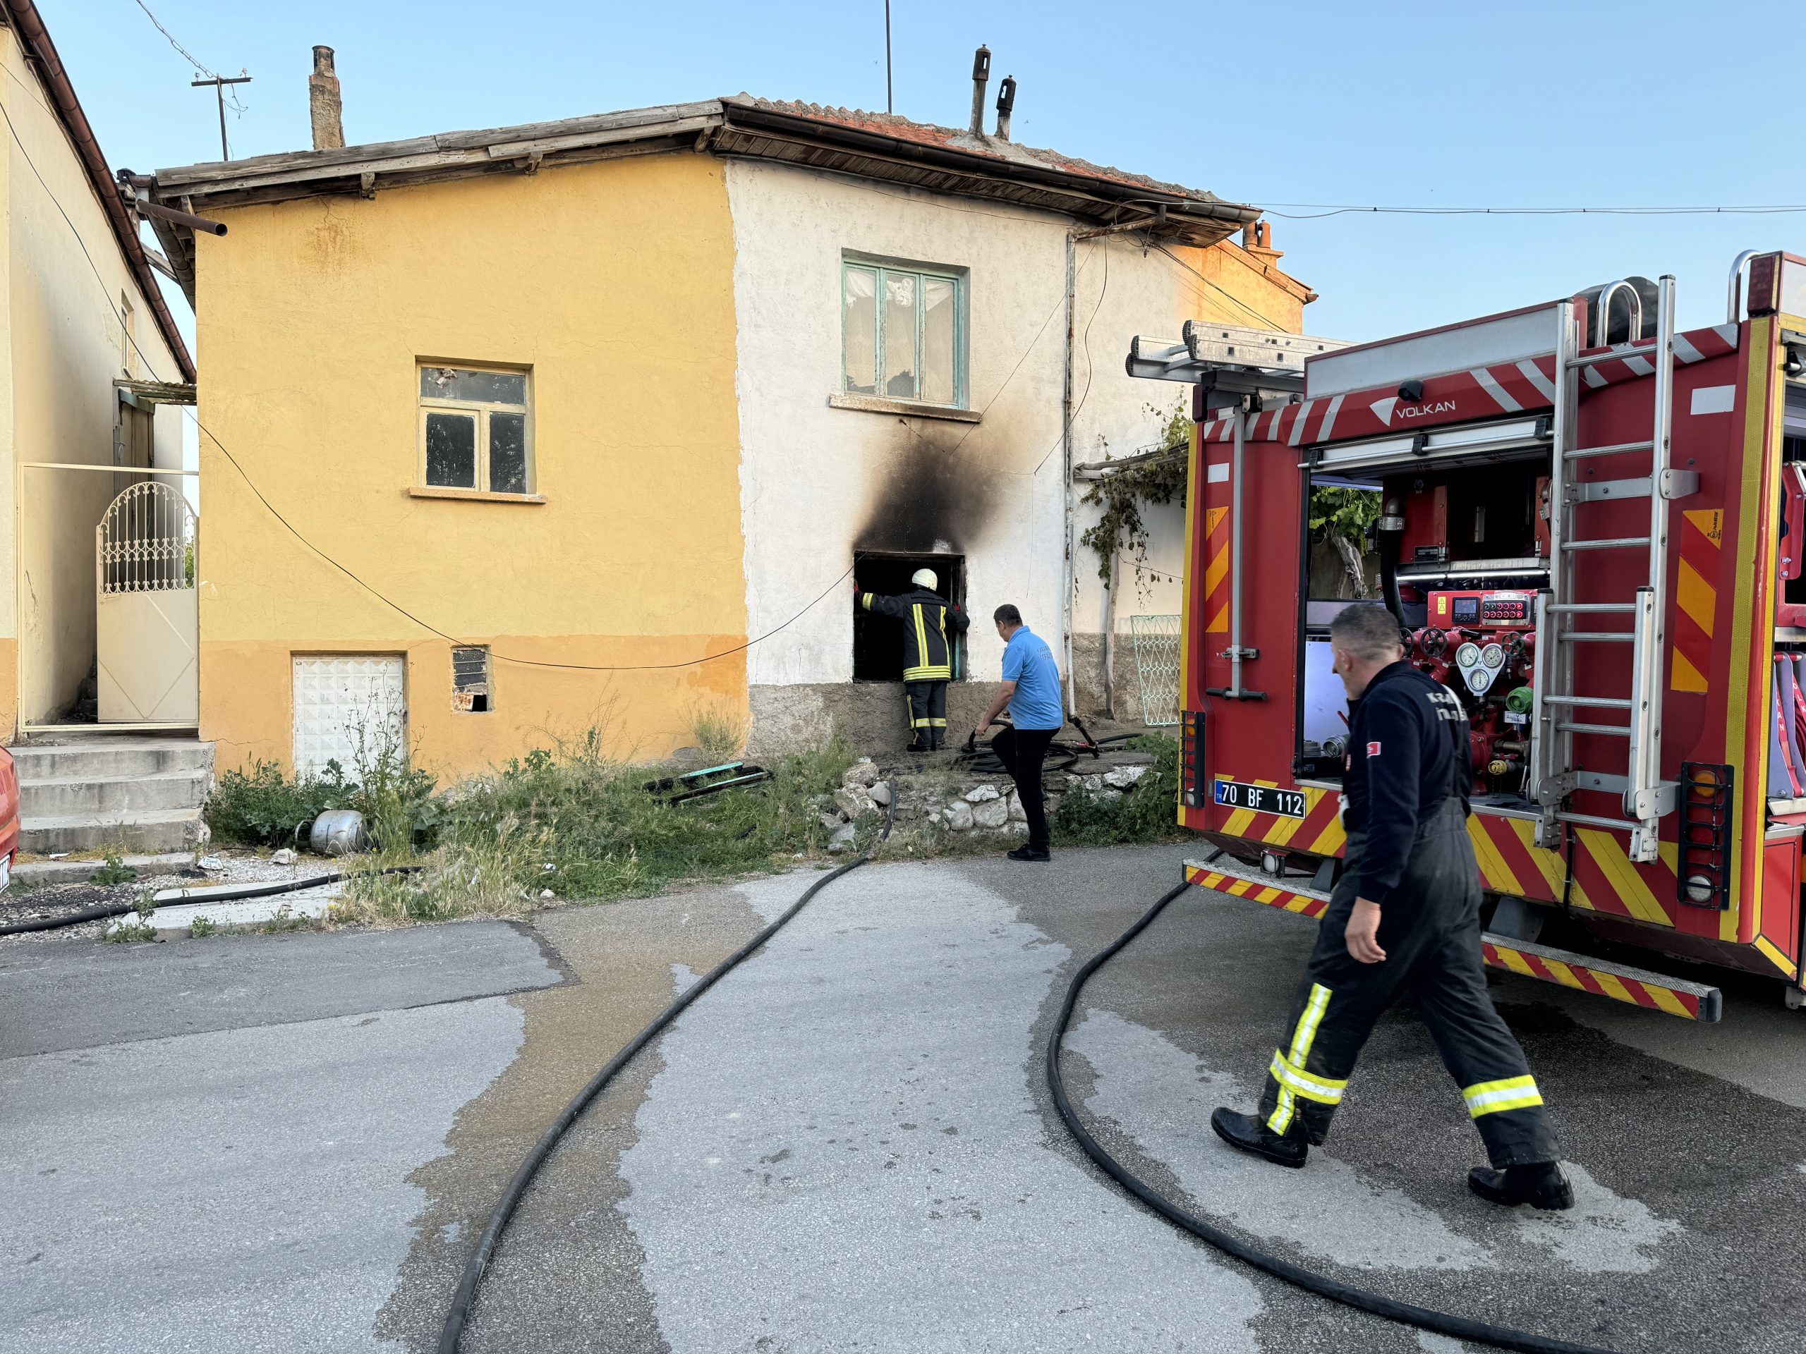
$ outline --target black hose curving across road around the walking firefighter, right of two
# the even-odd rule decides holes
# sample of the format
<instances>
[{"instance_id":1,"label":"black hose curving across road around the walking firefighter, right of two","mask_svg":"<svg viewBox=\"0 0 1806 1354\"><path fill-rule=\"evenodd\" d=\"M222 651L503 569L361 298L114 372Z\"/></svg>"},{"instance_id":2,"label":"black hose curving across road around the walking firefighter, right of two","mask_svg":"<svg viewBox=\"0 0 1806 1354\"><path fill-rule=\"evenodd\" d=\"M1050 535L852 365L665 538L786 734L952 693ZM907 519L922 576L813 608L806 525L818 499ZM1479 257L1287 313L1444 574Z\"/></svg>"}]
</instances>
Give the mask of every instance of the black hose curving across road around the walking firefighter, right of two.
<instances>
[{"instance_id":1,"label":"black hose curving across road around the walking firefighter, right of two","mask_svg":"<svg viewBox=\"0 0 1806 1354\"><path fill-rule=\"evenodd\" d=\"M1214 854L1221 854L1214 852ZM1327 1275L1318 1275L1304 1266L1282 1260L1277 1255L1270 1255L1248 1242L1233 1237L1223 1228L1206 1222L1196 1213L1187 1211L1179 1204L1167 1199L1167 1195L1154 1190L1134 1172L1123 1166L1111 1152L1093 1137L1091 1130L1085 1128L1084 1121L1078 1118L1078 1110L1073 1108L1073 1101L1066 1092L1066 1080L1060 1076L1060 1043L1066 1040L1067 1025L1073 1024L1073 1011L1078 1006L1078 997L1105 962L1118 955L1131 941L1134 941L1141 932L1145 932L1167 904L1176 897L1192 888L1190 883L1181 883L1161 895L1154 906L1143 912L1122 935L1103 946L1098 953L1085 960L1085 964L1073 975L1071 984L1066 989L1066 1000L1060 1006L1060 1015L1053 1022L1053 1033L1047 1036L1047 1090L1053 1094L1053 1105L1060 1112L1060 1119L1066 1123L1067 1130L1076 1139L1078 1146L1084 1148L1085 1155L1094 1161L1105 1175L1116 1181L1123 1190L1140 1199L1150 1210L1159 1213L1163 1219L1172 1222L1183 1231L1197 1237L1203 1242L1217 1247L1224 1255L1232 1255L1243 1264L1253 1266L1255 1269L1273 1275L1273 1278L1282 1278L1295 1287L1315 1293L1331 1302L1340 1302L1347 1307L1356 1307L1364 1312L1373 1312L1374 1316L1383 1316L1389 1322L1401 1322L1403 1325L1414 1325L1420 1331L1434 1331L1438 1334L1450 1336L1454 1340L1468 1340L1479 1345L1494 1345L1497 1349L1521 1350L1522 1354L1611 1354L1597 1345L1577 1345L1568 1340L1553 1340L1550 1336L1537 1336L1526 1331L1513 1331L1510 1327L1494 1325L1490 1322L1476 1322L1466 1316L1452 1316L1448 1312L1430 1311L1429 1307L1414 1307L1409 1302L1398 1302L1387 1298L1380 1293L1369 1293L1367 1289L1358 1289L1351 1284L1342 1284L1340 1280L1329 1278Z\"/></svg>"}]
</instances>

